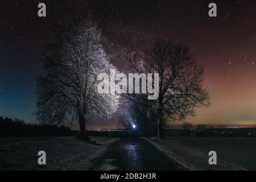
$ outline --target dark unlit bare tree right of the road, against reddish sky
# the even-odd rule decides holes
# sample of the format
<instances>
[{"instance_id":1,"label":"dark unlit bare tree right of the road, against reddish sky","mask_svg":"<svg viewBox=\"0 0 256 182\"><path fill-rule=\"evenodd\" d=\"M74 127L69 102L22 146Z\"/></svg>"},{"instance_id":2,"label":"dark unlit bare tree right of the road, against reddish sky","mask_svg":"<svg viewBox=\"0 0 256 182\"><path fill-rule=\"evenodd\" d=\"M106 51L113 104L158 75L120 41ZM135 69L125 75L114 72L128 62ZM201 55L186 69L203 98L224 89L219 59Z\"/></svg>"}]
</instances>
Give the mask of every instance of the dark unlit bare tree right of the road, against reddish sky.
<instances>
[{"instance_id":1,"label":"dark unlit bare tree right of the road, against reddish sky","mask_svg":"<svg viewBox=\"0 0 256 182\"><path fill-rule=\"evenodd\" d=\"M159 73L159 97L147 101L158 112L158 137L163 137L164 122L183 121L195 115L196 107L210 104L208 90L203 86L205 68L197 63L188 46L158 41L143 53L130 53L127 59L137 73ZM148 94L125 97L137 102L138 97L147 99Z\"/></svg>"}]
</instances>

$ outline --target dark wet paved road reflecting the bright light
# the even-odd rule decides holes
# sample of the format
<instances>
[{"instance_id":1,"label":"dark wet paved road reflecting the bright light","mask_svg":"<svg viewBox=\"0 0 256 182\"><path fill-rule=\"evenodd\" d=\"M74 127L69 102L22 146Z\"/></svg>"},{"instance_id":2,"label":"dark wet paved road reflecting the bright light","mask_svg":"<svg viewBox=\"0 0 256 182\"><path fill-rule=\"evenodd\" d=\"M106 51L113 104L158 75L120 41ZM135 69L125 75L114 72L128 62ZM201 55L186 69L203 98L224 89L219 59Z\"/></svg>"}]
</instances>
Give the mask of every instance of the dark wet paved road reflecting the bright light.
<instances>
[{"instance_id":1,"label":"dark wet paved road reflecting the bright light","mask_svg":"<svg viewBox=\"0 0 256 182\"><path fill-rule=\"evenodd\" d=\"M176 170L167 156L141 138L122 138L92 170Z\"/></svg>"}]
</instances>

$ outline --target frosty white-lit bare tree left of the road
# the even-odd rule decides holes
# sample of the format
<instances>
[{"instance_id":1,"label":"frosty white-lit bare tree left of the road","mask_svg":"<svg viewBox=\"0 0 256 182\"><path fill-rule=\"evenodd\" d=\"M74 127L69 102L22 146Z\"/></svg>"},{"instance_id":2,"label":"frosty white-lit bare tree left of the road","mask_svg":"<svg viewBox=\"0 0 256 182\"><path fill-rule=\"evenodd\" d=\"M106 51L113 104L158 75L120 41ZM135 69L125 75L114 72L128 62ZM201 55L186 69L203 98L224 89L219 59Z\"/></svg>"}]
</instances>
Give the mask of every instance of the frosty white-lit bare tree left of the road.
<instances>
[{"instance_id":1,"label":"frosty white-lit bare tree left of the road","mask_svg":"<svg viewBox=\"0 0 256 182\"><path fill-rule=\"evenodd\" d=\"M117 109L119 96L99 94L97 76L117 70L109 63L96 25L86 19L56 26L53 43L44 51L44 72L38 78L36 117L60 124L78 121L81 138L90 118L108 119Z\"/></svg>"}]
</instances>

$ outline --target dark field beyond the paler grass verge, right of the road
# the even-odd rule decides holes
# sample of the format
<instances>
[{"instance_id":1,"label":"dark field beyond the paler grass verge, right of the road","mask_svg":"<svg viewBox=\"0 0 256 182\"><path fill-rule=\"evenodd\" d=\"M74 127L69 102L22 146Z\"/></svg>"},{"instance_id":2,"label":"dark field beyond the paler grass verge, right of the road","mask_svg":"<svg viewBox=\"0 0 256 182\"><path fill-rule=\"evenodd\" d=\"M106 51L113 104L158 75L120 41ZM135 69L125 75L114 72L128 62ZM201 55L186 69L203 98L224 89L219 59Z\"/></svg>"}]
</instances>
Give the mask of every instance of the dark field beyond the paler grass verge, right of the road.
<instances>
[{"instance_id":1,"label":"dark field beyond the paler grass verge, right of the road","mask_svg":"<svg viewBox=\"0 0 256 182\"><path fill-rule=\"evenodd\" d=\"M168 137L201 153L217 152L217 158L248 170L256 170L256 137Z\"/></svg>"}]
</instances>

